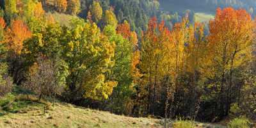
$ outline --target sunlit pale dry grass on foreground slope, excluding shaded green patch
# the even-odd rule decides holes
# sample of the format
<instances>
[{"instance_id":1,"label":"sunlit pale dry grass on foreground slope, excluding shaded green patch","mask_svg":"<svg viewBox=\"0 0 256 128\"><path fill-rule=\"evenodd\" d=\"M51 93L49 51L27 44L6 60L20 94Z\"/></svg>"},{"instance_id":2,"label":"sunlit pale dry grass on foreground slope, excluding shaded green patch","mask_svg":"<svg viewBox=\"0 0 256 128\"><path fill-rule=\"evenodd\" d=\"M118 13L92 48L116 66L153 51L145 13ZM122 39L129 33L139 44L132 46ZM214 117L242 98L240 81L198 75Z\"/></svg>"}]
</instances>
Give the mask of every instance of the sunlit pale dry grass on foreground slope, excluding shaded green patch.
<instances>
[{"instance_id":1,"label":"sunlit pale dry grass on foreground slope, excluding shaded green patch","mask_svg":"<svg viewBox=\"0 0 256 128\"><path fill-rule=\"evenodd\" d=\"M113 115L104 111L76 108L69 104L58 103L47 110L31 109L26 113L0 115L0 127L161 127L159 120L151 118L131 118Z\"/></svg>"}]
</instances>

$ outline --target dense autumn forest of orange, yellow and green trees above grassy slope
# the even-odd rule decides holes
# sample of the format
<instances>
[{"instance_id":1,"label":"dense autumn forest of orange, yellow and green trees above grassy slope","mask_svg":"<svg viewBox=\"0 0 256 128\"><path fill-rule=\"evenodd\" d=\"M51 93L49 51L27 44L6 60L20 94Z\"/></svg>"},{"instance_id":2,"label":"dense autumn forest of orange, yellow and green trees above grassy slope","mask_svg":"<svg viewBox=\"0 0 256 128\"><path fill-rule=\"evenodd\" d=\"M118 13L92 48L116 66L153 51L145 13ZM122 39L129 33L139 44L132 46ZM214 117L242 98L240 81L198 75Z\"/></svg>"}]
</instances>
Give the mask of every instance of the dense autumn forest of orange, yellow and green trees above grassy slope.
<instances>
[{"instance_id":1,"label":"dense autumn forest of orange, yellow and green trees above grassy slope","mask_svg":"<svg viewBox=\"0 0 256 128\"><path fill-rule=\"evenodd\" d=\"M215 18L156 0L1 1L0 97L19 86L118 115L256 120L255 2L192 3Z\"/></svg>"}]
</instances>

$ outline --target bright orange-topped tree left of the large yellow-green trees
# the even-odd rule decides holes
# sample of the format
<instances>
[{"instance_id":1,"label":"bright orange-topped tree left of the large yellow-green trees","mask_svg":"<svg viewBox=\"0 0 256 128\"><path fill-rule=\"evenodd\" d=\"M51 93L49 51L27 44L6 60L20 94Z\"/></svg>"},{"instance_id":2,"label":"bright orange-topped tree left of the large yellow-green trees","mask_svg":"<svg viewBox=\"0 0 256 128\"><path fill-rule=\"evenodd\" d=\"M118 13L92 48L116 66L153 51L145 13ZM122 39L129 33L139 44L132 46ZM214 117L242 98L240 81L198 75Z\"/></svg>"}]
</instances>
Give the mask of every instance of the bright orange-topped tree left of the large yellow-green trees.
<instances>
[{"instance_id":1,"label":"bright orange-topped tree left of the large yellow-green trees","mask_svg":"<svg viewBox=\"0 0 256 128\"><path fill-rule=\"evenodd\" d=\"M8 63L10 63L10 74L13 82L19 84L24 77L22 71L22 59L20 54L23 49L24 41L32 35L28 26L22 20L12 20L11 26L7 28L5 33L5 44L8 49ZM23 70L24 71L24 70Z\"/></svg>"}]
</instances>

